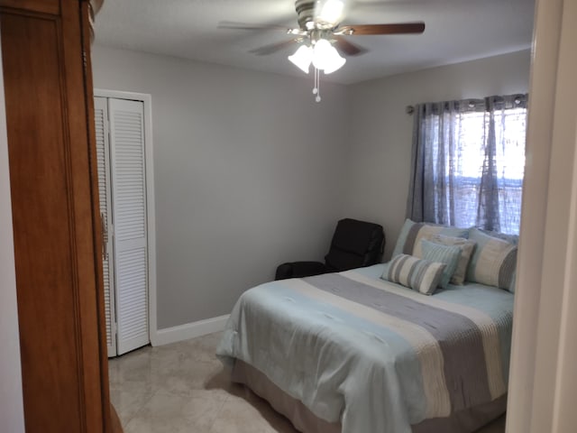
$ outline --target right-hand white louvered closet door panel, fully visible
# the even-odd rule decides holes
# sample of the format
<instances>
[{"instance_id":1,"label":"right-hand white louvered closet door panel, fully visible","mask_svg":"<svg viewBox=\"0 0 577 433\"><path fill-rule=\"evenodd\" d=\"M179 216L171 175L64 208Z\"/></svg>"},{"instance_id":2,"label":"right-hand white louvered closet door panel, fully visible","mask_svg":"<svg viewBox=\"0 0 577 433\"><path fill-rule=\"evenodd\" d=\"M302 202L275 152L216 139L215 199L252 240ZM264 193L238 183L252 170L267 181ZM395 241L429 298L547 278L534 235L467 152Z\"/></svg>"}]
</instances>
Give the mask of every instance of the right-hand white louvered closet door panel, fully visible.
<instances>
[{"instance_id":1,"label":"right-hand white louvered closet door panel, fully visible","mask_svg":"<svg viewBox=\"0 0 577 433\"><path fill-rule=\"evenodd\" d=\"M144 115L140 101L109 99L117 353L149 343Z\"/></svg>"}]
</instances>

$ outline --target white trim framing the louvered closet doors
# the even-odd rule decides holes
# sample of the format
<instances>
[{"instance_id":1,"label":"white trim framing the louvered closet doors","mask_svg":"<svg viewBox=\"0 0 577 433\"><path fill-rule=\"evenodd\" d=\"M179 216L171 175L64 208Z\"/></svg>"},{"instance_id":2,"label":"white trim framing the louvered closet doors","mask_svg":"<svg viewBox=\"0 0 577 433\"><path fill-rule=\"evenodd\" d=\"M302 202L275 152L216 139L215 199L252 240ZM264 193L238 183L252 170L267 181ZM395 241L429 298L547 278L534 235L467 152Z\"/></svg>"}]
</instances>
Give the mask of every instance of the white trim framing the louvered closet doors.
<instances>
[{"instance_id":1,"label":"white trim framing the louvered closet doors","mask_svg":"<svg viewBox=\"0 0 577 433\"><path fill-rule=\"evenodd\" d=\"M156 306L156 212L154 207L154 152L152 136L152 97L146 93L94 89L95 97L111 97L140 101L144 107L144 158L146 159L146 213L148 232L148 323L151 345L157 345Z\"/></svg>"}]
</instances>

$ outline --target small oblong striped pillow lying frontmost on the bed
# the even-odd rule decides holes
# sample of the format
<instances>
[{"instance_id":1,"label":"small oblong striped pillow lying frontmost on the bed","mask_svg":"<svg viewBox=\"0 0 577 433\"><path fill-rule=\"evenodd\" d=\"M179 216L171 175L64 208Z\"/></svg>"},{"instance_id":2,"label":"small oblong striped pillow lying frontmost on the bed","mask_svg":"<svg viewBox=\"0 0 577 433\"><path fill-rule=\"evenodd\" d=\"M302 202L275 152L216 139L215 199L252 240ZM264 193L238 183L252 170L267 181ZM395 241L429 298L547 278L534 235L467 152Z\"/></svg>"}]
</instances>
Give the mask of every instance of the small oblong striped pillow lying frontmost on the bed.
<instances>
[{"instance_id":1,"label":"small oblong striped pillow lying frontmost on the bed","mask_svg":"<svg viewBox=\"0 0 577 433\"><path fill-rule=\"evenodd\" d=\"M443 276L444 263L429 262L408 254L398 254L383 272L383 280L398 282L424 295L435 293Z\"/></svg>"}]
</instances>

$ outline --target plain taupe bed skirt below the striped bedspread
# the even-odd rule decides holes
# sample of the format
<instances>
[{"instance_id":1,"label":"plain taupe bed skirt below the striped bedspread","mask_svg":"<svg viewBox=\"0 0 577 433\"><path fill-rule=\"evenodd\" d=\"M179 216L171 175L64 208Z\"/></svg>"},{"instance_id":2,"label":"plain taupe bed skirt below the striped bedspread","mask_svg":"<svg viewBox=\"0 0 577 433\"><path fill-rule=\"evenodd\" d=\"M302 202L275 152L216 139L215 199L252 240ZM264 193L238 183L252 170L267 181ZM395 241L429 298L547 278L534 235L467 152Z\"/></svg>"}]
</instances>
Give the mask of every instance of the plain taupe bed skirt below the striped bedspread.
<instances>
[{"instance_id":1,"label":"plain taupe bed skirt below the striped bedspread","mask_svg":"<svg viewBox=\"0 0 577 433\"><path fill-rule=\"evenodd\" d=\"M297 399L290 397L259 370L237 359L234 363L232 381L248 386L280 414L287 417L295 428L303 433L341 433L339 422L317 418ZM499 418L507 408L507 394L495 401L471 409L453 413L448 418L426 419L412 427L413 433L472 433Z\"/></svg>"}]
</instances>

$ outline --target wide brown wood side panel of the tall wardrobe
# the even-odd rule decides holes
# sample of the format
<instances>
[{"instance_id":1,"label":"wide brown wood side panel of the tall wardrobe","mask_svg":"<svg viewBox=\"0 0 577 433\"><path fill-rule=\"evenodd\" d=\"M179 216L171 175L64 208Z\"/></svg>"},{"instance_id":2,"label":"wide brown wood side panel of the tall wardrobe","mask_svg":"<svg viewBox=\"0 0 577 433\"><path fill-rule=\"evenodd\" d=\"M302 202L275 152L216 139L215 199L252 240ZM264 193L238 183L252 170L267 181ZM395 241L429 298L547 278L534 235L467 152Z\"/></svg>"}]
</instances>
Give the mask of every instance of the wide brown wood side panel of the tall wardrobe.
<instances>
[{"instance_id":1,"label":"wide brown wood side panel of the tall wardrobe","mask_svg":"<svg viewBox=\"0 0 577 433\"><path fill-rule=\"evenodd\" d=\"M75 315L66 313L76 309L70 293L74 277L67 216L69 198L61 193L50 202L43 198L50 189L68 188L63 174L66 163L60 66L54 61L59 56L58 28L54 21L17 14L2 14L1 20L26 429L41 431L41 425L51 418L54 426L81 431L78 326ZM40 70L42 77L50 80L50 88L42 86ZM43 97L33 105L31 94ZM49 113L53 125L42 120ZM31 129L28 136L20 133L26 128ZM44 152L52 156L44 159ZM63 224L51 226L49 220L41 217L48 214L61 218ZM59 253L57 247L63 251ZM37 272L48 274L42 279ZM49 288L60 284L63 290L49 292ZM36 292L36 287L45 290ZM55 321L59 316L60 320ZM37 360L44 362L53 345L58 345L51 354L54 358L41 365ZM58 369L68 371L68 382L60 382ZM35 396L40 391L37 387L52 391ZM76 401L69 402L67 417L54 413L49 404L41 401L65 401L70 396L76 396Z\"/></svg>"}]
</instances>

